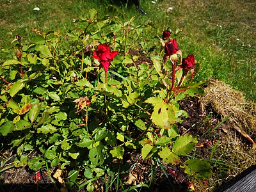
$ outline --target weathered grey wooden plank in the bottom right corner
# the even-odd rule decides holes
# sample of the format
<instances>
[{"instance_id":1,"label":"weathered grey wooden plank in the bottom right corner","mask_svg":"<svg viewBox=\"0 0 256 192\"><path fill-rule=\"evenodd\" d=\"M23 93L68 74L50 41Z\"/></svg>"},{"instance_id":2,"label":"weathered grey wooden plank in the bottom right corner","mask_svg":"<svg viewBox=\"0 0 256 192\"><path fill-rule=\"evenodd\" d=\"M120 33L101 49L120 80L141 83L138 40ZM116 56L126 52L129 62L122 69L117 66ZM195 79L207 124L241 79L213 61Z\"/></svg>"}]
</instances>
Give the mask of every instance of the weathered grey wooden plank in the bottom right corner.
<instances>
[{"instance_id":1,"label":"weathered grey wooden plank in the bottom right corner","mask_svg":"<svg viewBox=\"0 0 256 192\"><path fill-rule=\"evenodd\" d=\"M256 165L250 166L214 192L255 192L256 191Z\"/></svg>"}]
</instances>

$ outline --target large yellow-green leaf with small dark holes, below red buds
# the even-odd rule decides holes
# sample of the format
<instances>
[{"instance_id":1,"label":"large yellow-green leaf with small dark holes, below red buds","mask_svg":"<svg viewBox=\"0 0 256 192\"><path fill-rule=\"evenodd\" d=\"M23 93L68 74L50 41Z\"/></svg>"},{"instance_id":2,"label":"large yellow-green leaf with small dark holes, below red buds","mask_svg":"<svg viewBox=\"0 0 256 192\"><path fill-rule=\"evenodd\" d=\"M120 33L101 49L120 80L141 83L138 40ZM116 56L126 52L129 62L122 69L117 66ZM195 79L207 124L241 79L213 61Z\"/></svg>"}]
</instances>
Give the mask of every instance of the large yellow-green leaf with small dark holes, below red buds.
<instances>
[{"instance_id":1,"label":"large yellow-green leaf with small dark holes, below red buds","mask_svg":"<svg viewBox=\"0 0 256 192\"><path fill-rule=\"evenodd\" d=\"M157 102L151 116L152 122L163 129L172 128L175 124L175 111L173 105L166 102Z\"/></svg>"}]
</instances>

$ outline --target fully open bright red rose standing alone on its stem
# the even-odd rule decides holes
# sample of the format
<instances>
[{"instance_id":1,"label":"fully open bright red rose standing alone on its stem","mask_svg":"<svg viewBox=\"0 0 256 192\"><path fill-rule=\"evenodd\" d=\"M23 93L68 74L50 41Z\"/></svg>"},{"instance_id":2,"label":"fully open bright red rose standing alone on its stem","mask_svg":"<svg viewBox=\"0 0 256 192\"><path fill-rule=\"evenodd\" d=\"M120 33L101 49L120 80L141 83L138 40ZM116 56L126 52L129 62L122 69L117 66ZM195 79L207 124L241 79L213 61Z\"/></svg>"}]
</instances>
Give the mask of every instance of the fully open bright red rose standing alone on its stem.
<instances>
[{"instance_id":1,"label":"fully open bright red rose standing alone on its stem","mask_svg":"<svg viewBox=\"0 0 256 192\"><path fill-rule=\"evenodd\" d=\"M103 67L105 72L108 72L108 67L113 61L115 56L118 54L117 51L110 51L110 47L107 44L100 44L97 50L93 51L93 58L99 60L100 67Z\"/></svg>"}]
</instances>

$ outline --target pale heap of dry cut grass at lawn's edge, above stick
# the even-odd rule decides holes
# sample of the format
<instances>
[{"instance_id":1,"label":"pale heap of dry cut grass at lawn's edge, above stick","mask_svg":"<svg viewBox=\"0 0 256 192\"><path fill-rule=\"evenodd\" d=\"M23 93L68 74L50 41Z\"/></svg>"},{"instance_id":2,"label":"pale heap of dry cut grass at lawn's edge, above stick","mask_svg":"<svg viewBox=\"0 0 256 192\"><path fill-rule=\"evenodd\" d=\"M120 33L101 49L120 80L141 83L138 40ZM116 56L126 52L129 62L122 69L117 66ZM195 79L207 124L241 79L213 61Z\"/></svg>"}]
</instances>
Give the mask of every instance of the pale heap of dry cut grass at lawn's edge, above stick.
<instances>
[{"instance_id":1,"label":"pale heap of dry cut grass at lawn's edge, above stick","mask_svg":"<svg viewBox=\"0 0 256 192\"><path fill-rule=\"evenodd\" d=\"M232 128L256 138L256 104L247 102L243 93L232 89L222 81L212 79L201 98L202 109L211 107L222 119L228 118ZM255 144L256 145L256 144ZM253 147L256 147L256 146Z\"/></svg>"}]
</instances>

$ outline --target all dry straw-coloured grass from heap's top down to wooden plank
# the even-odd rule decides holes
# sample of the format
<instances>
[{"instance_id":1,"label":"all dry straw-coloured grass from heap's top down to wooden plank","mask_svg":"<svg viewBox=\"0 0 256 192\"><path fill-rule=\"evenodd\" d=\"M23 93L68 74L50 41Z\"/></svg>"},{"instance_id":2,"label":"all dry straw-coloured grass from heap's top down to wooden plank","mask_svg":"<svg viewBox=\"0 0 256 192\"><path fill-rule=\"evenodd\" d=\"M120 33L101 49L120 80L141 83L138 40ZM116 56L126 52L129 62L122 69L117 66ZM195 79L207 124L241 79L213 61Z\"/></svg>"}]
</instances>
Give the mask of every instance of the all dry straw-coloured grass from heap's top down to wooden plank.
<instances>
[{"instance_id":1,"label":"all dry straw-coloured grass from heap's top down to wooden plank","mask_svg":"<svg viewBox=\"0 0 256 192\"><path fill-rule=\"evenodd\" d=\"M243 135L246 132L252 140L256 138L256 104L247 102L243 93L216 79L210 81L200 101L203 110L211 108L222 120L227 118L222 126L225 134L216 143L214 156L209 159L220 160L222 164L213 163L212 178L207 184L195 182L198 191L214 191L216 186L256 164L255 144ZM242 134L237 132L239 130Z\"/></svg>"}]
</instances>

